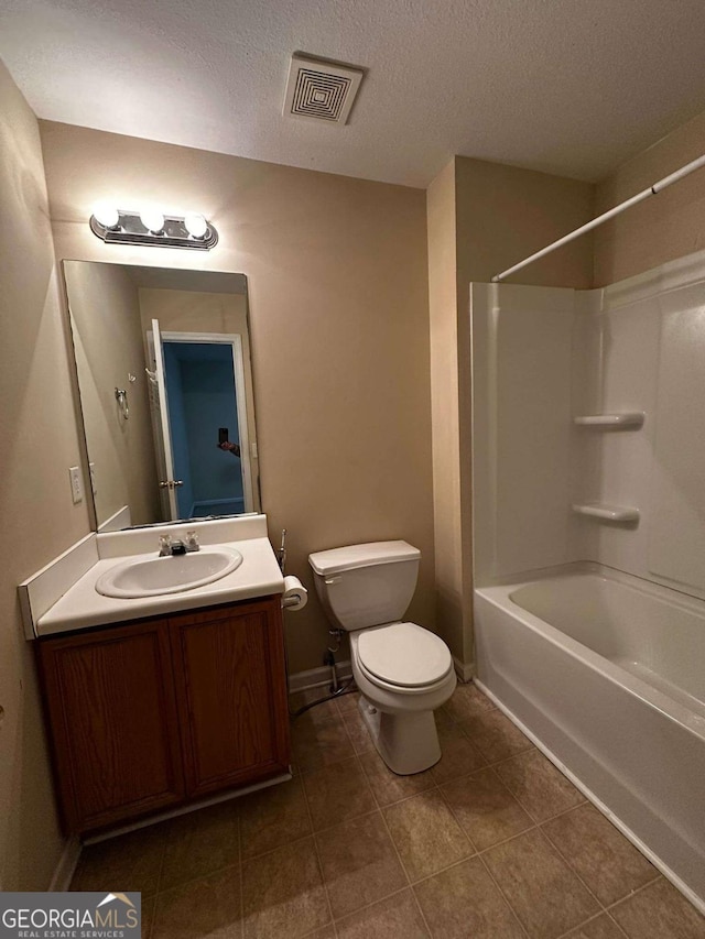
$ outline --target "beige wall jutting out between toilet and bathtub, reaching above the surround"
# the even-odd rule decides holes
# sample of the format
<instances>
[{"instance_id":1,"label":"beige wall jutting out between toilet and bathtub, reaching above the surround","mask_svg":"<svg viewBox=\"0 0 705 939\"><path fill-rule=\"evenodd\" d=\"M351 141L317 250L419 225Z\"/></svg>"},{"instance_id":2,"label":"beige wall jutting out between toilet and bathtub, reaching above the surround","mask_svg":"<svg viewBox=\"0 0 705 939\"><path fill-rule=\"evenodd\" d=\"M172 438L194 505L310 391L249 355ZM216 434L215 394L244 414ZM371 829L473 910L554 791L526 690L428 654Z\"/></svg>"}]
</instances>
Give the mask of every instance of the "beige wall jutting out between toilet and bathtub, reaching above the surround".
<instances>
[{"instance_id":1,"label":"beige wall jutting out between toilet and bathtub, reaching above the surround","mask_svg":"<svg viewBox=\"0 0 705 939\"><path fill-rule=\"evenodd\" d=\"M454 654L466 665L473 662L469 284L488 282L587 221L593 197L587 183L463 156L456 156L429 189L438 620ZM587 237L512 280L589 287L592 264Z\"/></svg>"}]
</instances>

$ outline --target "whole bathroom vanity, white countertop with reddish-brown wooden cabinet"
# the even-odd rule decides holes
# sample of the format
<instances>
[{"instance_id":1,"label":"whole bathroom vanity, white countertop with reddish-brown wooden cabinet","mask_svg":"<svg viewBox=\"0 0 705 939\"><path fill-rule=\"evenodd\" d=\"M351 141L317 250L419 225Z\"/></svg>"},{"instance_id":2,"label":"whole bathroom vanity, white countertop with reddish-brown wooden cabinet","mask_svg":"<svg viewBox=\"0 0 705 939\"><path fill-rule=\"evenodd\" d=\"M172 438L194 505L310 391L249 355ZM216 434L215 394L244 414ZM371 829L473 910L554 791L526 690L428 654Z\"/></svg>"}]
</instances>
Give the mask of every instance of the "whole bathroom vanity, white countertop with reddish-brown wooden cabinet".
<instances>
[{"instance_id":1,"label":"whole bathroom vanity, white countertop with reddish-brown wooden cabinet","mask_svg":"<svg viewBox=\"0 0 705 939\"><path fill-rule=\"evenodd\" d=\"M160 570L175 563L143 550L161 527L93 536L97 557L65 591L62 566L85 567L85 543L78 558L22 585L67 832L289 777L283 578L264 516L198 531L212 546L227 541L242 563L195 589L131 599L96 590L130 558ZM59 596L37 615L50 590Z\"/></svg>"}]
</instances>

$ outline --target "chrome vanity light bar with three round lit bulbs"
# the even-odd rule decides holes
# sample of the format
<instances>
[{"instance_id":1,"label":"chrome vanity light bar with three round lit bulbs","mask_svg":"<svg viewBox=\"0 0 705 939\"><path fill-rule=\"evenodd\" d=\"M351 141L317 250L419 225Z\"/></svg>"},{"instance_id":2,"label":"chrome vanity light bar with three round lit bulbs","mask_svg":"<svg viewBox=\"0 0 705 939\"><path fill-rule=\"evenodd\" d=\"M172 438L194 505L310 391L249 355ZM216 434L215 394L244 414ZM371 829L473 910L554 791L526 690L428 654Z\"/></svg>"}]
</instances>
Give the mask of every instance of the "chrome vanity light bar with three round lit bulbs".
<instances>
[{"instance_id":1,"label":"chrome vanity light bar with three round lit bulbs","mask_svg":"<svg viewBox=\"0 0 705 939\"><path fill-rule=\"evenodd\" d=\"M163 215L159 209L127 211L115 206L96 206L90 230L107 244L154 244L158 248L195 248L209 251L218 243L218 232L204 216Z\"/></svg>"}]
</instances>

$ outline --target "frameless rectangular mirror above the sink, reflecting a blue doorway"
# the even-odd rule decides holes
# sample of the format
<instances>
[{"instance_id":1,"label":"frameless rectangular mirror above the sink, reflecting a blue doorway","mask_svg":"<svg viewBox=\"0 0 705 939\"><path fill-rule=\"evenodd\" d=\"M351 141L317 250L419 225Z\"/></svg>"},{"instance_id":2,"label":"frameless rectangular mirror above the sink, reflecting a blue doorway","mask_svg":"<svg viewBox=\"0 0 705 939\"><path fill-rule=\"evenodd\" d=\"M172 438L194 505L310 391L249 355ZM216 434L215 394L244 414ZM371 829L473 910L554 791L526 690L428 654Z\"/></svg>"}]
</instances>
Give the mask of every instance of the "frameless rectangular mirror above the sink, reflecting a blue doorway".
<instances>
[{"instance_id":1,"label":"frameless rectangular mirror above the sink, reflecting a blue doorway","mask_svg":"<svg viewBox=\"0 0 705 939\"><path fill-rule=\"evenodd\" d=\"M260 512L246 276L63 270L95 529Z\"/></svg>"}]
</instances>

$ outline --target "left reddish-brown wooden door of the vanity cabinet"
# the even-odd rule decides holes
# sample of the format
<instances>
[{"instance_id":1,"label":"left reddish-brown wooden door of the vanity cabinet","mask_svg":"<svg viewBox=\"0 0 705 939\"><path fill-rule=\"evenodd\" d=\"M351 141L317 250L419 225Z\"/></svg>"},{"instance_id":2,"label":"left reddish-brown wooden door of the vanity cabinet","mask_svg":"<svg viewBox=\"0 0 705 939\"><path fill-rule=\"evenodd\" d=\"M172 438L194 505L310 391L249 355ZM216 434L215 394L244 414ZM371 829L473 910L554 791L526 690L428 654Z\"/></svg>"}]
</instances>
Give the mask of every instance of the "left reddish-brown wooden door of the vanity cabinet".
<instances>
[{"instance_id":1,"label":"left reddish-brown wooden door of the vanity cabinet","mask_svg":"<svg viewBox=\"0 0 705 939\"><path fill-rule=\"evenodd\" d=\"M183 799L167 623L37 643L68 831Z\"/></svg>"}]
</instances>

